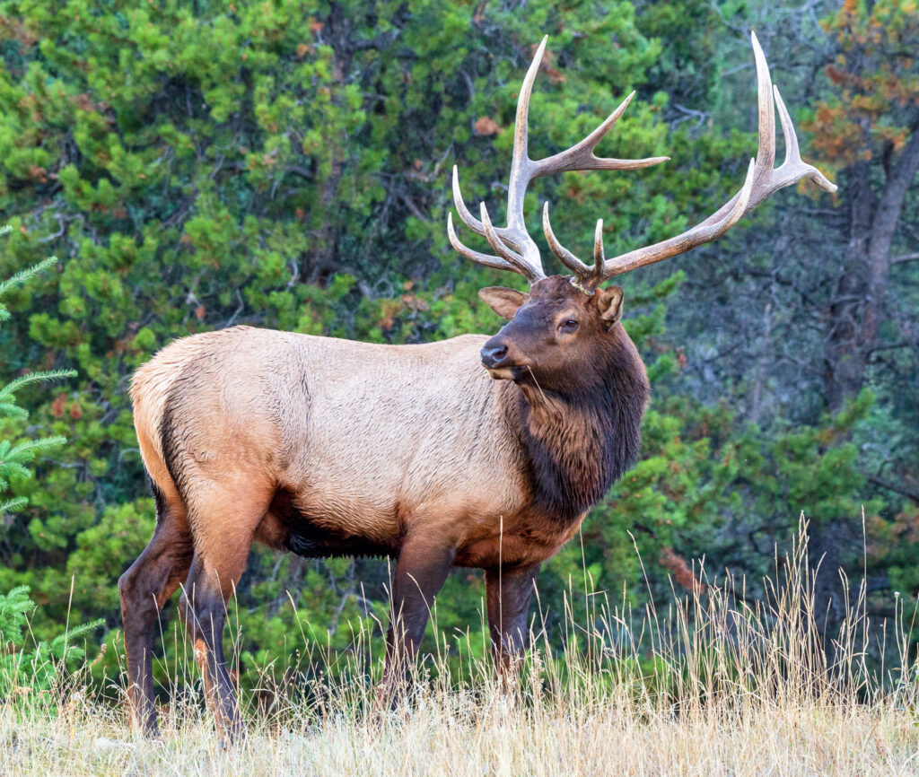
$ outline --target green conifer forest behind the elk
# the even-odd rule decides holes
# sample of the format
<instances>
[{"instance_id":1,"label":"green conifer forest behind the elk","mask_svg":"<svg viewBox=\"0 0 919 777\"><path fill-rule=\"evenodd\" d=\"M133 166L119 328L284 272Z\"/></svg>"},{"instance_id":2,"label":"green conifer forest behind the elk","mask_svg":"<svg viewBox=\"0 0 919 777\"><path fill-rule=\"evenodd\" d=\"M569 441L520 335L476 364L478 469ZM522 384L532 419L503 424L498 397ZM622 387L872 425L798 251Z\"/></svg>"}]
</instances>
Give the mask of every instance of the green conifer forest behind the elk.
<instances>
[{"instance_id":1,"label":"green conifer forest behind the elk","mask_svg":"<svg viewBox=\"0 0 919 777\"><path fill-rule=\"evenodd\" d=\"M30 587L34 634L103 618L95 670L117 672L116 580L153 529L127 388L158 348L242 323L378 343L496 331L476 292L519 279L450 249L448 174L459 164L467 202L501 209L516 90L543 34L532 155L637 89L601 151L672 161L540 179L531 232L547 199L582 250L597 218L607 253L686 229L755 151L750 29L804 158L839 190L786 189L718 242L622 279L653 390L641 461L545 565L545 625L566 638L565 609L577 621L594 591L669 601L671 585L702 584L702 559L754 600L802 512L831 632L863 572L873 623L897 596L912 607L914 0L14 0L0 3L0 278L58 261L6 293L0 384L76 371L22 388L28 419L0 428L68 440L40 477L10 479L18 507L0 513L0 591ZM256 549L234 606L241 669L289 659L301 628L333 651L349 624L379 635L387 575L379 560ZM458 571L437 603L438 626L471 627L480 652L482 594Z\"/></svg>"}]
</instances>

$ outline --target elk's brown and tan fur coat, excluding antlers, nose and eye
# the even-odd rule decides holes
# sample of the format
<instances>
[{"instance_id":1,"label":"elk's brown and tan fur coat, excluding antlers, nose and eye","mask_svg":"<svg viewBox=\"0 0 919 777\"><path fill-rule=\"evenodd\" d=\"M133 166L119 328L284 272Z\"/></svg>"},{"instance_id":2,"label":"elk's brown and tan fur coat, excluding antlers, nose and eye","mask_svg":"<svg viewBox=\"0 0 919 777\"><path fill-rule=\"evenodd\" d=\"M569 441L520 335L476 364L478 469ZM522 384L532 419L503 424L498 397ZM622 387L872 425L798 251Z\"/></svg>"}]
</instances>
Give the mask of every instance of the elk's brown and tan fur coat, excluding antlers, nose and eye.
<instances>
[{"instance_id":1,"label":"elk's brown and tan fur coat, excluding antlers, nose and eye","mask_svg":"<svg viewBox=\"0 0 919 777\"><path fill-rule=\"evenodd\" d=\"M553 277L516 301L496 336L527 363L511 380L482 368L480 335L393 346L249 327L184 338L137 371L135 425L158 494L151 546L182 548L142 556L120 581L142 726L155 728L144 673L155 608L138 602L161 607L187 574L182 612L211 671L211 704L239 728L217 610L254 540L305 556L399 557L393 606L416 645L450 566L530 580L573 535L637 456L647 380L602 294ZM580 332L554 336L568 314ZM516 628L529 593L518 588L506 602Z\"/></svg>"}]
</instances>

